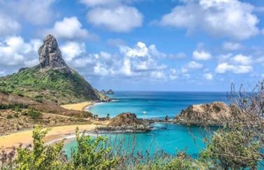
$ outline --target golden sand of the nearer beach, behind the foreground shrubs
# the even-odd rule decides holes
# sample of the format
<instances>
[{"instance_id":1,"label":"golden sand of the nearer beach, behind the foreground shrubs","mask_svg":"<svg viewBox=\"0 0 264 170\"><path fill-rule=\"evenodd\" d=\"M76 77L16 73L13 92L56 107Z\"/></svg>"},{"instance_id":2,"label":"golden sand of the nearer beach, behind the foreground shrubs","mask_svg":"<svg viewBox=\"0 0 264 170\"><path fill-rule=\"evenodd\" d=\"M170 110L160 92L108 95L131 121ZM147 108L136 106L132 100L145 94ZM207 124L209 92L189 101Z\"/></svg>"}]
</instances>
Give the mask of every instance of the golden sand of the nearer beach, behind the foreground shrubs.
<instances>
[{"instance_id":1,"label":"golden sand of the nearer beach, behind the foreground shrubs","mask_svg":"<svg viewBox=\"0 0 264 170\"><path fill-rule=\"evenodd\" d=\"M83 132L84 130L95 130L98 125L66 125L51 127L52 129L45 137L45 143L56 139L64 139L72 134L75 134L76 127L79 127L80 132ZM17 147L20 146L20 144L32 144L32 132L33 130L27 130L2 136L0 137L0 148L10 148L12 146Z\"/></svg>"}]
</instances>

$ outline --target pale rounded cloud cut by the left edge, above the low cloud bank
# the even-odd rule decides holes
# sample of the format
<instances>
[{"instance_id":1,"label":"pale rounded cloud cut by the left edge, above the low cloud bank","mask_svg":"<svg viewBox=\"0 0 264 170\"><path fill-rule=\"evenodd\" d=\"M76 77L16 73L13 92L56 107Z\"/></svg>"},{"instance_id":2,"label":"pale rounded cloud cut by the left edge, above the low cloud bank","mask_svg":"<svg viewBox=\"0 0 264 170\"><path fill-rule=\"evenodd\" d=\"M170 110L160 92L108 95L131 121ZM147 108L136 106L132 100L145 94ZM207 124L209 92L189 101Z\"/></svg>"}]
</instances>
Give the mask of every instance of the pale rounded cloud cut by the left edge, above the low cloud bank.
<instances>
[{"instance_id":1,"label":"pale rounded cloud cut by the left edge, above the low cloud bank","mask_svg":"<svg viewBox=\"0 0 264 170\"><path fill-rule=\"evenodd\" d=\"M20 24L6 15L0 14L0 36L10 36L20 31Z\"/></svg>"}]
</instances>

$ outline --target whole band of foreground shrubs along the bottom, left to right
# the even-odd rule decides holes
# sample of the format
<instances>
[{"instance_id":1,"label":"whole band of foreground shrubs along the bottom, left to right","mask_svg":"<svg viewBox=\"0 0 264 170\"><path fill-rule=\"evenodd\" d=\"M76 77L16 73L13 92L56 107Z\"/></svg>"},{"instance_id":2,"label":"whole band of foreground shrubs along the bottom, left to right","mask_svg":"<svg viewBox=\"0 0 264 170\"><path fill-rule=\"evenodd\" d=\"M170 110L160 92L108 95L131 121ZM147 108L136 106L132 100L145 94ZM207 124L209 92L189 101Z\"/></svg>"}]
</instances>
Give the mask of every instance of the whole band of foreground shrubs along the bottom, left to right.
<instances>
[{"instance_id":1,"label":"whole band of foreground shrubs along the bottom, left to right","mask_svg":"<svg viewBox=\"0 0 264 170\"><path fill-rule=\"evenodd\" d=\"M116 154L107 145L105 137L91 139L76 130L77 148L71 152L68 159L64 155L64 141L53 145L45 145L44 137L48 130L36 127L33 133L34 147L13 148L10 153L0 153L1 169L138 169L138 170L177 170L177 169L256 169L260 155L257 140L245 139L241 133L219 130L200 153L198 159L193 159L184 152L176 156L161 154L152 159L142 157L141 161L126 164L135 158L131 155L124 159L124 155ZM229 150L233 154L226 153ZM15 151L17 156L15 157ZM119 159L120 158L120 159Z\"/></svg>"}]
</instances>

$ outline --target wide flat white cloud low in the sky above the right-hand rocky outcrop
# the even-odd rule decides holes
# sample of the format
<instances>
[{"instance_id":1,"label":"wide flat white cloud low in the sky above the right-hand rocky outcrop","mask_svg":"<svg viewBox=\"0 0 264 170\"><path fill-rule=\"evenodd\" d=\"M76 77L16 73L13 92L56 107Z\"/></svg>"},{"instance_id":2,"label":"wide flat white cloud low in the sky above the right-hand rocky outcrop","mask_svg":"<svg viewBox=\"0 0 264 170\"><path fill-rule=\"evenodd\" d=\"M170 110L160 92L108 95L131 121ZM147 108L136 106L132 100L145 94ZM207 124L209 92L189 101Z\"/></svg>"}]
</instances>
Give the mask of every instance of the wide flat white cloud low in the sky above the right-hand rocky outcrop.
<instances>
[{"instance_id":1,"label":"wide flat white cloud low in the sky above the right-hand rocky outcrop","mask_svg":"<svg viewBox=\"0 0 264 170\"><path fill-rule=\"evenodd\" d=\"M235 74L249 73L253 70L251 65L232 65L229 63L220 63L217 65L217 73L233 72Z\"/></svg>"}]
</instances>

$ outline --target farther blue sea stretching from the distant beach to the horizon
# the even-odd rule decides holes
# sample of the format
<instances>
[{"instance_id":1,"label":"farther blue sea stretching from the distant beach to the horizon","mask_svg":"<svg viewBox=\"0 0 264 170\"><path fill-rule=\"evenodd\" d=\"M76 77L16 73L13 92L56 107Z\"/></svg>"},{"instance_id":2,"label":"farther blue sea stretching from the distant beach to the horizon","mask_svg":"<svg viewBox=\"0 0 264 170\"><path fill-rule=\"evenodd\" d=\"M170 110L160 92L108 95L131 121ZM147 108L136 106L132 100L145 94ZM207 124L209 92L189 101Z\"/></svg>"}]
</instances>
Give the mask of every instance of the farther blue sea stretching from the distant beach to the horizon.
<instances>
[{"instance_id":1,"label":"farther blue sea stretching from the distant beach to the horizon","mask_svg":"<svg viewBox=\"0 0 264 170\"><path fill-rule=\"evenodd\" d=\"M170 118L194 104L202 104L214 101L227 101L224 92L135 92L117 91L113 102L103 103L91 107L89 111L98 114L99 117L115 117L122 112L130 111L137 114L138 118ZM143 114L147 112L147 114Z\"/></svg>"}]
</instances>

